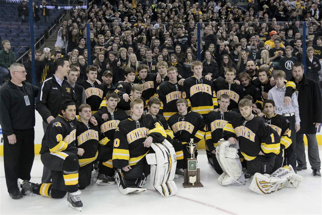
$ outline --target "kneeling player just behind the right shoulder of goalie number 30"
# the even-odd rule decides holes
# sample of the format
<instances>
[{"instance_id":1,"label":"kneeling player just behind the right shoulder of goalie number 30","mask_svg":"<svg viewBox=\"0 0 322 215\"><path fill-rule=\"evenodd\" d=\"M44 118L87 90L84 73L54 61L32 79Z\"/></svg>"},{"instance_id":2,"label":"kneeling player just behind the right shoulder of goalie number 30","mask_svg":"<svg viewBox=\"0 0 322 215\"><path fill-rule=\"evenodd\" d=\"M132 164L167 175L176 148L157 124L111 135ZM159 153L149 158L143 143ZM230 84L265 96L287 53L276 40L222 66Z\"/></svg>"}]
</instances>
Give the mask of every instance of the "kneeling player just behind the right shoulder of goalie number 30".
<instances>
[{"instance_id":1,"label":"kneeling player just behind the right shoulder of goalie number 30","mask_svg":"<svg viewBox=\"0 0 322 215\"><path fill-rule=\"evenodd\" d=\"M160 72L160 70L158 70ZM158 114L159 109L161 106L161 102L157 98L150 98L149 102L147 103L147 109L149 110L147 114L151 114L152 116L156 117L161 125L163 126L164 130L166 131L166 140L169 141L174 149L175 155L177 160L177 166L175 170L175 178L183 178L184 170L183 170L183 151L182 151L182 143L174 138L173 131L169 127L168 123L166 122L166 118L161 114Z\"/></svg>"}]
</instances>

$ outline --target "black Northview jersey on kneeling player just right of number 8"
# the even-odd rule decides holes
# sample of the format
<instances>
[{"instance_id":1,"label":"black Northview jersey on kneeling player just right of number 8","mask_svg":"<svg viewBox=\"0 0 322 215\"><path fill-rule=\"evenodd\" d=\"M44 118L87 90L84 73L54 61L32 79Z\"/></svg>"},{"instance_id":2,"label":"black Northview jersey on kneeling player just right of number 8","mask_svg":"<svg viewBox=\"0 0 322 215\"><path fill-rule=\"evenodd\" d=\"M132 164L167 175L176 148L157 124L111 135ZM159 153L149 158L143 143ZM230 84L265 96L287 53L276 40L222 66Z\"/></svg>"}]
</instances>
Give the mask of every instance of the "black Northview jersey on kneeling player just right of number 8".
<instances>
[{"instance_id":1,"label":"black Northview jersey on kneeling player just right of number 8","mask_svg":"<svg viewBox=\"0 0 322 215\"><path fill-rule=\"evenodd\" d=\"M85 166L95 161L98 156L99 144L106 145L109 139L100 132L98 126L94 126L90 122L85 125L77 120L76 122L76 148L84 149L82 156L78 155L80 166Z\"/></svg>"}]
</instances>

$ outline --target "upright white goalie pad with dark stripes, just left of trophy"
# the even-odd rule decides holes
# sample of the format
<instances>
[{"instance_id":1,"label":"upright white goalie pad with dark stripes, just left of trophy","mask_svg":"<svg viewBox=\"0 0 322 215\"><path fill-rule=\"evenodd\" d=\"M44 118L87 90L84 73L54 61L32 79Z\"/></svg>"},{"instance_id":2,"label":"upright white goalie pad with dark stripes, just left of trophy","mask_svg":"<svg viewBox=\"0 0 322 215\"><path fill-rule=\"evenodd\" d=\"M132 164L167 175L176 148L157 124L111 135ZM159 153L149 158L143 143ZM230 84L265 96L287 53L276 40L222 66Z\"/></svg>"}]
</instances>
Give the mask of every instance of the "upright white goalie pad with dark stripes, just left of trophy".
<instances>
[{"instance_id":1,"label":"upright white goalie pad with dark stripes, just left of trophy","mask_svg":"<svg viewBox=\"0 0 322 215\"><path fill-rule=\"evenodd\" d=\"M177 159L175 149L170 142L152 143L156 153L146 155L147 163L151 165L150 183L163 197L173 196L178 192L173 179Z\"/></svg>"}]
</instances>

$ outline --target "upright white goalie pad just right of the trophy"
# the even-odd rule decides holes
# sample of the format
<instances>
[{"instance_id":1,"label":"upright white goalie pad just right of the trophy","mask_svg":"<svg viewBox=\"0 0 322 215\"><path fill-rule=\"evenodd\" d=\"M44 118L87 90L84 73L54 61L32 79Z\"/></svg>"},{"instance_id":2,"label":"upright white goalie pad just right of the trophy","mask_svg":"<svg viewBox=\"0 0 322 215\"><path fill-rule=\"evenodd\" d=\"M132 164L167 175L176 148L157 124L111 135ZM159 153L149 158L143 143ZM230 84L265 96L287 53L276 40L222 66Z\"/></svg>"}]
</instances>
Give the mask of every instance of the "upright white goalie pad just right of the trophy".
<instances>
[{"instance_id":1,"label":"upright white goalie pad just right of the trophy","mask_svg":"<svg viewBox=\"0 0 322 215\"><path fill-rule=\"evenodd\" d=\"M241 177L242 164L239 160L237 149L230 148L229 146L228 141L221 141L216 147L216 158L223 169L223 174L218 177L218 182L221 185L244 183L245 178ZM242 181L238 181L240 178L242 178Z\"/></svg>"}]
</instances>

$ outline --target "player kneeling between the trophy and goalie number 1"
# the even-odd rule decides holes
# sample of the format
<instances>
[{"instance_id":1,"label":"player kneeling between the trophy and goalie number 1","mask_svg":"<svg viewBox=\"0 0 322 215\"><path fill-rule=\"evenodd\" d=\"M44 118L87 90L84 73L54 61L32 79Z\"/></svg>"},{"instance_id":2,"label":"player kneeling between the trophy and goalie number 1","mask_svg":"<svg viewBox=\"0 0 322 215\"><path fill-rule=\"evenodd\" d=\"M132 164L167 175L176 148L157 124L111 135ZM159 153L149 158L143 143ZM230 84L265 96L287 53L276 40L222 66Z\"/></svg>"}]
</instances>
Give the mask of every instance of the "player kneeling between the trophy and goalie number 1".
<instances>
[{"instance_id":1,"label":"player kneeling between the trophy and goalie number 1","mask_svg":"<svg viewBox=\"0 0 322 215\"><path fill-rule=\"evenodd\" d=\"M237 113L228 111L230 98L227 94L222 94L219 97L218 104L219 110L217 112L211 111L206 115L207 132L205 134L205 142L212 156L212 160L208 160L210 167L214 168L218 174L222 174L223 170L216 159L215 150L218 141L223 138L223 128L227 122L230 122L237 116Z\"/></svg>"}]
</instances>

